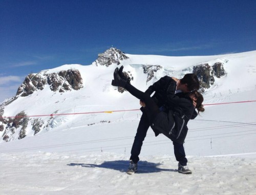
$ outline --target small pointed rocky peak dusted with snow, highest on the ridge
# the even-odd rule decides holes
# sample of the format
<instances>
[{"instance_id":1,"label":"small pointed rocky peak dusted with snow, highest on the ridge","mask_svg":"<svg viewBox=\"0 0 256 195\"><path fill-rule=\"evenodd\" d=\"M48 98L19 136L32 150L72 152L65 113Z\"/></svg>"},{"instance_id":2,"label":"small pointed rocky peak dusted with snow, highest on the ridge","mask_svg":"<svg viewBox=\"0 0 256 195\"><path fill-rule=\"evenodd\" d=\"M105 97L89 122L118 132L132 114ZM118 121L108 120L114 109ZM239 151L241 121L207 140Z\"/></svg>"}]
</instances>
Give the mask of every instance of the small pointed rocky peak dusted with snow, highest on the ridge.
<instances>
[{"instance_id":1,"label":"small pointed rocky peak dusted with snow, highest on the ridge","mask_svg":"<svg viewBox=\"0 0 256 195\"><path fill-rule=\"evenodd\" d=\"M128 59L121 50L116 48L110 48L104 53L99 54L98 59L96 59L96 66L106 66L109 67L112 63L120 64L120 60Z\"/></svg>"}]
</instances>

